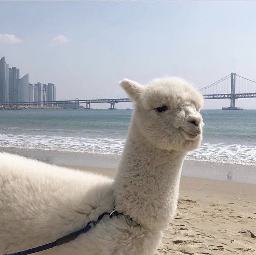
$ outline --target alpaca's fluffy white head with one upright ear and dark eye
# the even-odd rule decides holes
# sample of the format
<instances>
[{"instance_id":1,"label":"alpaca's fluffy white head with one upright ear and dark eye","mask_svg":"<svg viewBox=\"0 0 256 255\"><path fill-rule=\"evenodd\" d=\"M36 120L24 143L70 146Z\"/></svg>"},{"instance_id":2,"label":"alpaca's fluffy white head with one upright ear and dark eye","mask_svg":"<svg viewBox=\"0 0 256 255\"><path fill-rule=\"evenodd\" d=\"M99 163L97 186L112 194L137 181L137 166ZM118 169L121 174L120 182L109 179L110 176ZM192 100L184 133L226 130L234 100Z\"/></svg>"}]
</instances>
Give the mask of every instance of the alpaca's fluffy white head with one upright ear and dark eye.
<instances>
[{"instance_id":1,"label":"alpaca's fluffy white head with one upright ear and dark eye","mask_svg":"<svg viewBox=\"0 0 256 255\"><path fill-rule=\"evenodd\" d=\"M179 78L154 79L147 86L124 79L122 88L135 103L133 124L158 149L190 151L202 140L203 96Z\"/></svg>"}]
</instances>

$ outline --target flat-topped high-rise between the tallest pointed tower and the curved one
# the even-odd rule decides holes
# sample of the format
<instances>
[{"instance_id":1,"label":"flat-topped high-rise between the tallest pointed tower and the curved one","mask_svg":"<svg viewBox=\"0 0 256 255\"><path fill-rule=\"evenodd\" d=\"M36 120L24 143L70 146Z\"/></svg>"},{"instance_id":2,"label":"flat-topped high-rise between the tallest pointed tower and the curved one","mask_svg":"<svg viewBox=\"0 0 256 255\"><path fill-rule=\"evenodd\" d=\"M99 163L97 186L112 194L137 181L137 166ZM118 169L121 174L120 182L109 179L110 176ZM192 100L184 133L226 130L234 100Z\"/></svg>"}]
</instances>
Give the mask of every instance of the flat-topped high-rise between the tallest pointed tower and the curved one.
<instances>
[{"instance_id":1,"label":"flat-topped high-rise between the tallest pointed tower and the curved one","mask_svg":"<svg viewBox=\"0 0 256 255\"><path fill-rule=\"evenodd\" d=\"M19 68L9 68L9 102L18 102Z\"/></svg>"}]
</instances>

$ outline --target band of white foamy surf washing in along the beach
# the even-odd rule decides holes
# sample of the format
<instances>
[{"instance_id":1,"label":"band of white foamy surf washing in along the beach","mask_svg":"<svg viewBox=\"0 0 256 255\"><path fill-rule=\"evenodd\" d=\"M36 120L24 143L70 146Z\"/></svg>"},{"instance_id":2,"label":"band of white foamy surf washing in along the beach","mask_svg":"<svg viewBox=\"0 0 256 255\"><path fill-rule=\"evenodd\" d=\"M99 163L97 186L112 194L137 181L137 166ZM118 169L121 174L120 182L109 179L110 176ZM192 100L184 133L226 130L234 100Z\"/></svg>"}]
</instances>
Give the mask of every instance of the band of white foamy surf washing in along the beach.
<instances>
[{"instance_id":1,"label":"band of white foamy surf washing in along the beach","mask_svg":"<svg viewBox=\"0 0 256 255\"><path fill-rule=\"evenodd\" d=\"M0 134L1 147L87 152L94 154L121 154L125 139L110 137L65 137L47 135ZM256 147L241 144L203 143L187 155L188 160L256 165Z\"/></svg>"}]
</instances>

